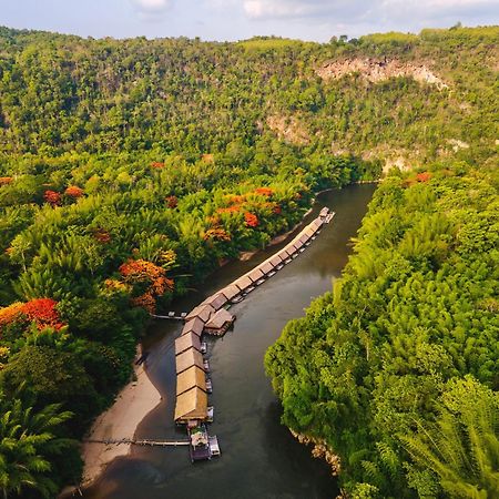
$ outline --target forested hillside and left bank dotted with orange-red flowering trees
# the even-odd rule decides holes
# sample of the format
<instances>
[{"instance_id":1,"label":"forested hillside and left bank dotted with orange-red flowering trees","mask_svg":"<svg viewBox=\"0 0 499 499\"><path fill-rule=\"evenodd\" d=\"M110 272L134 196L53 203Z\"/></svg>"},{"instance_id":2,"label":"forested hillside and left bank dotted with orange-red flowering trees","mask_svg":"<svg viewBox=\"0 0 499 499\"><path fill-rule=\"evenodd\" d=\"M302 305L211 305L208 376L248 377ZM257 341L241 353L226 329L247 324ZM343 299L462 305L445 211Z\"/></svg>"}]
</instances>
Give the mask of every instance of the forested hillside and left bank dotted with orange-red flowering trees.
<instances>
[{"instance_id":1,"label":"forested hillside and left bank dotted with orange-red flowering trees","mask_svg":"<svg viewBox=\"0 0 499 499\"><path fill-rule=\"evenodd\" d=\"M326 44L0 28L2 491L78 482L77 440L130 379L149 314L289 230L315 192L393 164L489 175L498 41L497 27Z\"/></svg>"}]
</instances>

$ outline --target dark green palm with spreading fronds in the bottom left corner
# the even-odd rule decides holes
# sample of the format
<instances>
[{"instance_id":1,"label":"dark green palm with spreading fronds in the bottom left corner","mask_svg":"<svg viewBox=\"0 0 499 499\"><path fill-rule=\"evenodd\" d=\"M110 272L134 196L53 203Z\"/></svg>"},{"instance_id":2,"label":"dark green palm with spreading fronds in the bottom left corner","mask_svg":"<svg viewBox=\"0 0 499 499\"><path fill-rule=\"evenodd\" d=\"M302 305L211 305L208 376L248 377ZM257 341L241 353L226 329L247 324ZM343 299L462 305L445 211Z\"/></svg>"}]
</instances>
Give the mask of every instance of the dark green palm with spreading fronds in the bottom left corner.
<instances>
[{"instance_id":1,"label":"dark green palm with spreading fronds in the bottom left corner","mask_svg":"<svg viewBox=\"0 0 499 499\"><path fill-rule=\"evenodd\" d=\"M74 445L59 438L57 428L71 418L53 404L35 411L18 393L8 398L0 391L0 490L4 498L34 489L41 497L54 497L59 486L51 478L50 458Z\"/></svg>"}]
</instances>

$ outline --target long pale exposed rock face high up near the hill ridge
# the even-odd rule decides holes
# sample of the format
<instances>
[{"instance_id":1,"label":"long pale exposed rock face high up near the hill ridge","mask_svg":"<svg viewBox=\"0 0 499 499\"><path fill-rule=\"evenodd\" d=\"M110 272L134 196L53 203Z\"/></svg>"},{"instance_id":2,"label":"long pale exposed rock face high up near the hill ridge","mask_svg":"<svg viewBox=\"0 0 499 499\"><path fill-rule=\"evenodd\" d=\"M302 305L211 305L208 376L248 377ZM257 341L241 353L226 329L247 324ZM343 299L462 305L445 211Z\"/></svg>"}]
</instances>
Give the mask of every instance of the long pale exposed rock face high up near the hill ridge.
<instances>
[{"instance_id":1,"label":"long pale exposed rock face high up near the hill ridge","mask_svg":"<svg viewBox=\"0 0 499 499\"><path fill-rule=\"evenodd\" d=\"M343 59L326 62L316 72L325 80L339 79L346 74L358 72L365 80L373 83L385 81L389 78L410 77L420 83L435 85L438 90L448 88L447 83L426 64L401 62L397 59Z\"/></svg>"}]
</instances>

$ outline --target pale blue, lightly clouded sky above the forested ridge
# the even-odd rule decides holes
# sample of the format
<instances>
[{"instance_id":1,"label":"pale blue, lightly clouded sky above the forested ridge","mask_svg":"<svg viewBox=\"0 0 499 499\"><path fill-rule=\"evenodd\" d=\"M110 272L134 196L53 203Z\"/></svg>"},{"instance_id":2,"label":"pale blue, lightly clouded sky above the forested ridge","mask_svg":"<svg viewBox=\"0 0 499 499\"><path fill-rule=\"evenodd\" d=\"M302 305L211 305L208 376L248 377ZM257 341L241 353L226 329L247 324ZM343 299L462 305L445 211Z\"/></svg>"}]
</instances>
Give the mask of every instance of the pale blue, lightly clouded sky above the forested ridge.
<instances>
[{"instance_id":1,"label":"pale blue, lightly clouded sky above the forested ridge","mask_svg":"<svg viewBox=\"0 0 499 499\"><path fill-rule=\"evenodd\" d=\"M93 38L273 34L325 42L457 22L499 24L499 0L0 0L0 26Z\"/></svg>"}]
</instances>

